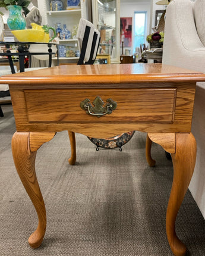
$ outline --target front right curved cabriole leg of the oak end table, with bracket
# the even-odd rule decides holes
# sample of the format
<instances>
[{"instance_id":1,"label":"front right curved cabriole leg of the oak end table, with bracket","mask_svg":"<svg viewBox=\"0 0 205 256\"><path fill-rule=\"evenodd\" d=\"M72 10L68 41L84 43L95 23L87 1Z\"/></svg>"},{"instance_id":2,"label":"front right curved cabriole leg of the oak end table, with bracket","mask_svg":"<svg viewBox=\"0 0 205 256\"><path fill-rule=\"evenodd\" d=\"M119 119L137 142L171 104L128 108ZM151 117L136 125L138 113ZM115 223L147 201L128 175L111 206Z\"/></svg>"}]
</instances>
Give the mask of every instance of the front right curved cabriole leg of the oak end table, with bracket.
<instances>
[{"instance_id":1,"label":"front right curved cabriole leg of the oak end table, with bracket","mask_svg":"<svg viewBox=\"0 0 205 256\"><path fill-rule=\"evenodd\" d=\"M152 141L172 154L174 178L166 211L166 234L174 255L182 256L186 254L186 246L176 236L175 221L194 172L197 148L192 133L176 133L175 140L173 136L174 133L149 133Z\"/></svg>"}]
</instances>

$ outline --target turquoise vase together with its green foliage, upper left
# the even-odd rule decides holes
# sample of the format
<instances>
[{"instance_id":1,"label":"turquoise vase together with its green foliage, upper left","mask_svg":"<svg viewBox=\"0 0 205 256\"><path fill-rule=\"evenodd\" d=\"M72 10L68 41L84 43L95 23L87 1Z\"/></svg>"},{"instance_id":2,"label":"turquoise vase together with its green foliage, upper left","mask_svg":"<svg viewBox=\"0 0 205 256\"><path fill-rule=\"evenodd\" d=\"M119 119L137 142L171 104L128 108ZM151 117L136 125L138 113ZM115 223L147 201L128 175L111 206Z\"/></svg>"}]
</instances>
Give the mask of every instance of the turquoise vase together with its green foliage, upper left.
<instances>
[{"instance_id":1,"label":"turquoise vase together with its green foliage, upper left","mask_svg":"<svg viewBox=\"0 0 205 256\"><path fill-rule=\"evenodd\" d=\"M29 13L27 8L30 4L29 0L0 0L0 7L4 7L6 10L10 11L9 17L7 19L7 24L10 29L18 30L26 28L26 21L21 15L21 9L23 13Z\"/></svg>"}]
</instances>

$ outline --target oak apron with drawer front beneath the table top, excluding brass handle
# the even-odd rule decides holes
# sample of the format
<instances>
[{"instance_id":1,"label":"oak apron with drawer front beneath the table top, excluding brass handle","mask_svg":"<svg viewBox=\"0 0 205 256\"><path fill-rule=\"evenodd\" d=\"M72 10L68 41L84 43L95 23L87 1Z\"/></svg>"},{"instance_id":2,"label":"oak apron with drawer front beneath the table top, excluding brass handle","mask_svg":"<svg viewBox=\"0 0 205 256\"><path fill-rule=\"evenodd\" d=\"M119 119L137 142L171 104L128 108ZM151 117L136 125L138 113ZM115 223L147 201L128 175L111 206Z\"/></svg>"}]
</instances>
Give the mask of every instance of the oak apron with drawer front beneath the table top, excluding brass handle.
<instances>
[{"instance_id":1,"label":"oak apron with drawer front beneath the table top, excluding brass handle","mask_svg":"<svg viewBox=\"0 0 205 256\"><path fill-rule=\"evenodd\" d=\"M142 130L144 132L190 132L195 88L187 84L166 88L132 89L11 89L17 130L112 133ZM15 93L15 97L12 94ZM88 114L80 107L85 99L95 108L96 97L116 102L111 114L101 117ZM97 104L96 104L97 105ZM98 113L98 112L97 112ZM87 128L86 128L87 127ZM90 127L90 128L89 128ZM109 131L105 132L106 127ZM113 129L111 129L113 127ZM115 127L115 128L114 128Z\"/></svg>"}]
</instances>

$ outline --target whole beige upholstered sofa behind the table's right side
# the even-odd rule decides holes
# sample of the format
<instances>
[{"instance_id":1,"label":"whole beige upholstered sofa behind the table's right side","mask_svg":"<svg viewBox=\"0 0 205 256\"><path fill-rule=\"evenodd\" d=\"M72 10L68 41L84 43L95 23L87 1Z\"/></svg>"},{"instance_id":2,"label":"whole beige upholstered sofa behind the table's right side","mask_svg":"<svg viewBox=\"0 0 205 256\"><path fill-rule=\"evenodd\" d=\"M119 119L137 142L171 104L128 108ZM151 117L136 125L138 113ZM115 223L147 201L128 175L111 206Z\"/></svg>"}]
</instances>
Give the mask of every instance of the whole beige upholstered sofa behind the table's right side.
<instances>
[{"instance_id":1,"label":"whole beige upholstered sofa behind the table's right side","mask_svg":"<svg viewBox=\"0 0 205 256\"><path fill-rule=\"evenodd\" d=\"M205 0L168 5L162 63L205 73ZM197 83L192 133L197 160L189 189L205 218L205 83Z\"/></svg>"}]
</instances>

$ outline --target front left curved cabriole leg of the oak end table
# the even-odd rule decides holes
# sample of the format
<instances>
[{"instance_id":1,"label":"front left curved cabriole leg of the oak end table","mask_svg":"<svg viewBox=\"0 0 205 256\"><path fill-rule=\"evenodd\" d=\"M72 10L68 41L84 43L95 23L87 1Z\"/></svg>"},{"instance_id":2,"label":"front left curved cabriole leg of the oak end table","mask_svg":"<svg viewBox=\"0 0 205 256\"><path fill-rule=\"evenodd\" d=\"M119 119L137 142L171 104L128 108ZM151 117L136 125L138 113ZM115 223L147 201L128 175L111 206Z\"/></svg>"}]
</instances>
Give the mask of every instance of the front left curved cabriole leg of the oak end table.
<instances>
[{"instance_id":1,"label":"front left curved cabriole leg of the oak end table","mask_svg":"<svg viewBox=\"0 0 205 256\"><path fill-rule=\"evenodd\" d=\"M36 177L35 160L37 149L50 141L55 133L15 132L12 137L12 154L15 167L39 218L36 231L29 238L29 245L38 248L46 231L46 209Z\"/></svg>"}]
</instances>

